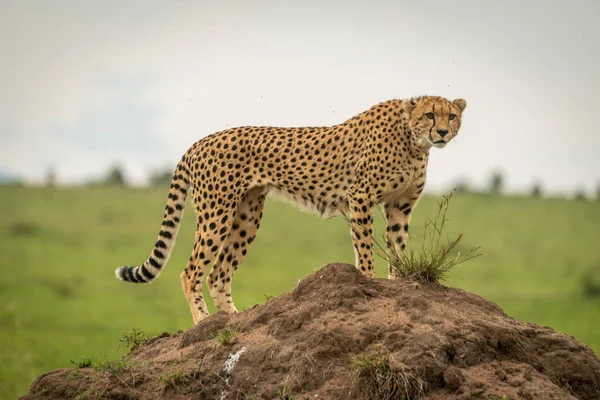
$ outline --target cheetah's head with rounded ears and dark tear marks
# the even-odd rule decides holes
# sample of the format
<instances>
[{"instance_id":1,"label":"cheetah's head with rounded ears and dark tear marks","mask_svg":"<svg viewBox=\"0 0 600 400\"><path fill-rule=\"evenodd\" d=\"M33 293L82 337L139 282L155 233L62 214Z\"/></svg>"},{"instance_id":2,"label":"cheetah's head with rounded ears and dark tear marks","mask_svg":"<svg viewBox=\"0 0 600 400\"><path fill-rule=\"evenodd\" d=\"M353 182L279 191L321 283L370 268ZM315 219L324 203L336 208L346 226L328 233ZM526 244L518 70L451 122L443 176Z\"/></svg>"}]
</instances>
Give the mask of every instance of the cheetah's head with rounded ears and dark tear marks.
<instances>
[{"instance_id":1,"label":"cheetah's head with rounded ears and dark tear marks","mask_svg":"<svg viewBox=\"0 0 600 400\"><path fill-rule=\"evenodd\" d=\"M467 107L464 99L454 101L443 97L425 96L402 102L410 115L409 128L416 142L423 147L445 147L460 129L460 118Z\"/></svg>"}]
</instances>

